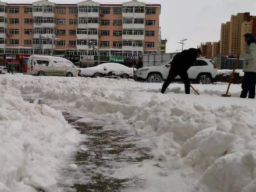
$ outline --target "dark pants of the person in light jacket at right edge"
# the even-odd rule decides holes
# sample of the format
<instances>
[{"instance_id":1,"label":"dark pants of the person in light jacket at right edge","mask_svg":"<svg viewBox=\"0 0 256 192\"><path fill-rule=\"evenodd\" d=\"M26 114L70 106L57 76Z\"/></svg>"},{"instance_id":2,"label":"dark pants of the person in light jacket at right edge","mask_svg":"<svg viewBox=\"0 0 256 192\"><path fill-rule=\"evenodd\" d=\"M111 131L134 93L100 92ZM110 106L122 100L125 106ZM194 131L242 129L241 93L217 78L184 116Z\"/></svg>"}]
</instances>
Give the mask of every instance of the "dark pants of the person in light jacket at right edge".
<instances>
[{"instance_id":1,"label":"dark pants of the person in light jacket at right edge","mask_svg":"<svg viewBox=\"0 0 256 192\"><path fill-rule=\"evenodd\" d=\"M256 73L254 72L244 72L244 79L242 83L242 93L241 98L246 98L249 93L250 99L255 98L255 85L256 85Z\"/></svg>"}]
</instances>

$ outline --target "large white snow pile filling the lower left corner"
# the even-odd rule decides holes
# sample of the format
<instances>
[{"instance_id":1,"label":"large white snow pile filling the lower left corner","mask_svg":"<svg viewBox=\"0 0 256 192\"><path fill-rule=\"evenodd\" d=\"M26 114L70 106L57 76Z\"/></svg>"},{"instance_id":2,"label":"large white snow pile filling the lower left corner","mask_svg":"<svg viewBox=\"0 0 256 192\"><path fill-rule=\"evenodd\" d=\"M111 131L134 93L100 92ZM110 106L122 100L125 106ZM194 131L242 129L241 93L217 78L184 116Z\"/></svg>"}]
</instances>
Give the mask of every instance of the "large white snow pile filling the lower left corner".
<instances>
[{"instance_id":1,"label":"large white snow pile filling the lower left corner","mask_svg":"<svg viewBox=\"0 0 256 192\"><path fill-rule=\"evenodd\" d=\"M79 133L47 105L24 102L0 84L0 191L58 191L57 170Z\"/></svg>"}]
</instances>

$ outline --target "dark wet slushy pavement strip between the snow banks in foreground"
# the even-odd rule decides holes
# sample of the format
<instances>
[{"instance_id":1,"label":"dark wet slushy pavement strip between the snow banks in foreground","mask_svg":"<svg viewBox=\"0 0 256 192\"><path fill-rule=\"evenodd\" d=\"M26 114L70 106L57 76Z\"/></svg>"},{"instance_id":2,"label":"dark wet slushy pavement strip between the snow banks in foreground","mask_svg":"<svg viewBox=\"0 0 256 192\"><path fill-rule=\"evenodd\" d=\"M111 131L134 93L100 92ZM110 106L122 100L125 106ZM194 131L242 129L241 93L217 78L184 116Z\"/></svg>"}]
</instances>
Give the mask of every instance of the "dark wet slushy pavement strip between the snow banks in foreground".
<instances>
[{"instance_id":1,"label":"dark wet slushy pavement strip between the snow banks in foreground","mask_svg":"<svg viewBox=\"0 0 256 192\"><path fill-rule=\"evenodd\" d=\"M23 99L35 99L23 95ZM47 104L38 100L39 104ZM49 105L49 104L48 104ZM51 105L49 105L51 106ZM144 180L134 176L117 179L112 175L118 168L127 165L140 165L152 159L150 148L137 144L137 138L119 122L105 122L104 125L82 122L84 117L76 117L62 112L67 122L85 137L70 159L62 167L58 186L61 191L133 191L143 188ZM96 120L97 121L97 120ZM70 164L76 169L70 169Z\"/></svg>"}]
</instances>

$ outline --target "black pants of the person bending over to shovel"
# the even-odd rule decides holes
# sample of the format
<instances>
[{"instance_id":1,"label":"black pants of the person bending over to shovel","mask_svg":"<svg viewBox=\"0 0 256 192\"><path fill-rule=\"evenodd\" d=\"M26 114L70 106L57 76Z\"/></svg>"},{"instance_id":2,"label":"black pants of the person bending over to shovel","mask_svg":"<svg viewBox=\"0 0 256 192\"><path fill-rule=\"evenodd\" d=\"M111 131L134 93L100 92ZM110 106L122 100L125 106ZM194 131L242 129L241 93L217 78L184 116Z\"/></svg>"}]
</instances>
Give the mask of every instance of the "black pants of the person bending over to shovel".
<instances>
[{"instance_id":1,"label":"black pants of the person bending over to shovel","mask_svg":"<svg viewBox=\"0 0 256 192\"><path fill-rule=\"evenodd\" d=\"M189 75L187 74L186 70L178 70L175 68L170 68L169 74L167 79L165 80L165 83L163 83L163 87L161 90L161 93L165 93L166 88L169 86L170 83L175 79L175 77L180 76L182 78L182 81L185 85L185 93L190 94L190 82L189 82Z\"/></svg>"}]
</instances>

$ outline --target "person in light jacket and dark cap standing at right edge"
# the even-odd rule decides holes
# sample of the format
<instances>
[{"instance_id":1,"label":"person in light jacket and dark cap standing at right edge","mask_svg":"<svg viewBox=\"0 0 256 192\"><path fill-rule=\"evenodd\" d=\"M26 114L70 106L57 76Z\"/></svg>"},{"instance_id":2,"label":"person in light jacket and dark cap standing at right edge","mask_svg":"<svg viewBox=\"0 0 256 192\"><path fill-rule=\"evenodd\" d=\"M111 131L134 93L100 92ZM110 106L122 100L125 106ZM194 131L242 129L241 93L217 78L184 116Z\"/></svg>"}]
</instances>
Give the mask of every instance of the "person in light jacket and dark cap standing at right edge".
<instances>
[{"instance_id":1,"label":"person in light jacket and dark cap standing at right edge","mask_svg":"<svg viewBox=\"0 0 256 192\"><path fill-rule=\"evenodd\" d=\"M256 40L253 34L247 33L244 35L247 48L246 53L241 53L240 58L243 61L243 83L241 98L254 99L255 98L255 86L256 86ZM249 94L248 94L249 93Z\"/></svg>"}]
</instances>

